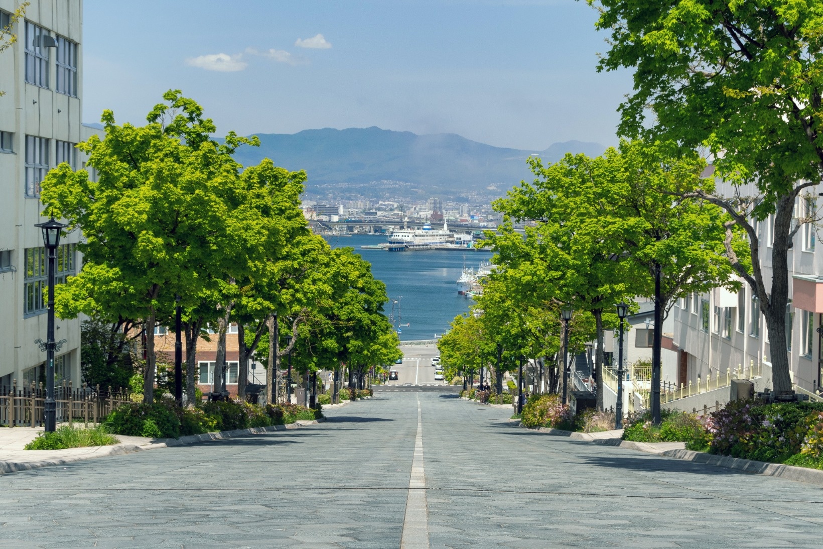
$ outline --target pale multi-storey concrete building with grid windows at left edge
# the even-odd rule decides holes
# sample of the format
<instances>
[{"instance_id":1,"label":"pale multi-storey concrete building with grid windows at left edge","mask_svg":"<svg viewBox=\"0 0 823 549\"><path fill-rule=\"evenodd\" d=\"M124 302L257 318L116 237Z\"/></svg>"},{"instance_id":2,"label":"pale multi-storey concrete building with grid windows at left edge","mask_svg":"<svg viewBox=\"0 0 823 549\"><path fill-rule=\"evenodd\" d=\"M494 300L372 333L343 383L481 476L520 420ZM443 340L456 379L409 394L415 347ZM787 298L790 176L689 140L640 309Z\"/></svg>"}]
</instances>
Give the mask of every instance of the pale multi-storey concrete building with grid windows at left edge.
<instances>
[{"instance_id":1,"label":"pale multi-storey concrete building with grid windows at left edge","mask_svg":"<svg viewBox=\"0 0 823 549\"><path fill-rule=\"evenodd\" d=\"M20 5L0 0L0 26ZM91 129L81 126L81 0L31 0L13 32L15 45L0 53L0 386L44 382L46 260L36 223L42 217L40 181L60 162L82 167L74 145ZM49 47L54 46L54 47ZM85 135L84 135L85 133ZM79 232L63 236L57 279L77 273ZM60 383L80 375L80 321L56 321Z\"/></svg>"}]
</instances>

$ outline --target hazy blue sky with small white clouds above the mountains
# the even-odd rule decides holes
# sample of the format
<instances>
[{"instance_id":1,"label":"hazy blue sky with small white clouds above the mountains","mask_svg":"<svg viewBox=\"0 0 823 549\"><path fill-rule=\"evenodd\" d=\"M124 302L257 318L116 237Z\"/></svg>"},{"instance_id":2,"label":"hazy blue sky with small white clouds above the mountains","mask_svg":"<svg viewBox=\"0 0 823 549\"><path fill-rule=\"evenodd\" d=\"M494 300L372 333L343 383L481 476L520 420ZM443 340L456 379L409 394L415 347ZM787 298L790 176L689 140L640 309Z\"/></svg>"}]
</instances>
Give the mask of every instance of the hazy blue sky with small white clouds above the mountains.
<instances>
[{"instance_id":1,"label":"hazy blue sky with small white clouds above the mountains","mask_svg":"<svg viewBox=\"0 0 823 549\"><path fill-rule=\"evenodd\" d=\"M220 134L376 125L610 145L631 78L596 73L596 19L574 0L85 0L83 117L142 124L176 88Z\"/></svg>"}]
</instances>

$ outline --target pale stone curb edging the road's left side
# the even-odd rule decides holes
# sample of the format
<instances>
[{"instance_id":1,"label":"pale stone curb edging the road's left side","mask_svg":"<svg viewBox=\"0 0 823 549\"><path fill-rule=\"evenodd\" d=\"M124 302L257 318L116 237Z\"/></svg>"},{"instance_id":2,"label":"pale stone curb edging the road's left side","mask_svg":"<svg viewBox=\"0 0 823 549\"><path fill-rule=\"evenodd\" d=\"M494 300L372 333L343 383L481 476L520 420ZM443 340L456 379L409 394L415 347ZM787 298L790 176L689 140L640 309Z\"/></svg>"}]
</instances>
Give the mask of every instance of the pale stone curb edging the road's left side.
<instances>
[{"instance_id":1,"label":"pale stone curb edging the road's left side","mask_svg":"<svg viewBox=\"0 0 823 549\"><path fill-rule=\"evenodd\" d=\"M338 406L342 406L342 404ZM295 423L290 423L287 425L268 425L267 427L251 427L249 429L235 429L231 431L219 431L215 433L188 434L184 437L180 437L179 439L157 439L156 442L143 444L142 446L137 446L137 444L130 443L112 444L111 446L90 446L88 448L95 449L95 452L85 453L78 456L42 459L39 461L31 462L0 461L0 473L30 471L31 469L49 467L50 465L63 465L66 463L84 461L86 459L106 458L109 456L122 456L127 453L141 452L142 450L154 450L156 448L188 446L189 444L209 442L212 440L232 439L235 437L245 436L247 434L264 434L273 433L274 431L285 431L288 429L300 429L301 427L308 427L309 425L318 425L319 423L323 423L323 421L325 420L326 418L321 417L319 420L297 420ZM35 450L31 451L35 452Z\"/></svg>"}]
</instances>

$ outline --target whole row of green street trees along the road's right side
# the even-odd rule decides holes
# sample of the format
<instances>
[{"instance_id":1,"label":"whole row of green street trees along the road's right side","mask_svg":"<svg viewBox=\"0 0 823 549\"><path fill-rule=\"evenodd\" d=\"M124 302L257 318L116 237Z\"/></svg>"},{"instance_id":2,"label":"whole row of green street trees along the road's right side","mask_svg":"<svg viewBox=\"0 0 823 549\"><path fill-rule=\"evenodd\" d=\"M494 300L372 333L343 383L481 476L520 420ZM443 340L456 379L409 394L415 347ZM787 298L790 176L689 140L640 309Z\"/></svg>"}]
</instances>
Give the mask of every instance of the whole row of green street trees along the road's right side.
<instances>
[{"instance_id":1,"label":"whole row of green street trees along the road's right side","mask_svg":"<svg viewBox=\"0 0 823 549\"><path fill-rule=\"evenodd\" d=\"M500 267L492 279L506 284L520 315L555 300L592 315L598 349L622 298L653 297L661 326L681 295L748 284L769 331L772 387L790 395L788 252L802 225L820 220L823 2L587 2L610 33L598 70L635 71L618 128L630 140L602 157L530 161L537 180L495 207L537 225L525 238L509 225L491 237ZM772 244L770 278L763 237ZM657 392L659 364L656 330ZM598 351L598 384L601 368Z\"/></svg>"}]
</instances>

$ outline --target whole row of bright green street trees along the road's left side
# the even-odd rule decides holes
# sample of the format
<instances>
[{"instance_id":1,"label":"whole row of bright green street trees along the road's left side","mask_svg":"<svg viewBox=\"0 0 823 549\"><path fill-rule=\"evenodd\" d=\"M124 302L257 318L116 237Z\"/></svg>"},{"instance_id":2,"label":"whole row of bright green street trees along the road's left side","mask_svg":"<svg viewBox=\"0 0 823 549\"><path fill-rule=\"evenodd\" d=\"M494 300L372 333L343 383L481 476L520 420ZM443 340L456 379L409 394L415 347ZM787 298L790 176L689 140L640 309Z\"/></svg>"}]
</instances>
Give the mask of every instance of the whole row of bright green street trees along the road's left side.
<instances>
[{"instance_id":1,"label":"whole row of bright green street trees along the road's left side","mask_svg":"<svg viewBox=\"0 0 823 549\"><path fill-rule=\"evenodd\" d=\"M216 338L213 382L221 387L231 322L239 331L241 398L252 354L267 366L269 402L277 397L281 357L290 352L299 371L371 368L397 358L398 338L383 315L384 284L351 248L332 250L309 230L300 209L305 172L269 159L241 166L233 153L257 146L257 138L232 132L218 143L195 101L179 91L164 100L145 126L116 124L104 112L105 138L78 145L94 179L61 164L43 181L46 213L66 218L85 241L81 272L58 286L58 316L86 314L109 335L145 328L146 401L156 383L154 328L174 326L178 306L188 402L202 337ZM122 350L122 337L109 341Z\"/></svg>"}]
</instances>

